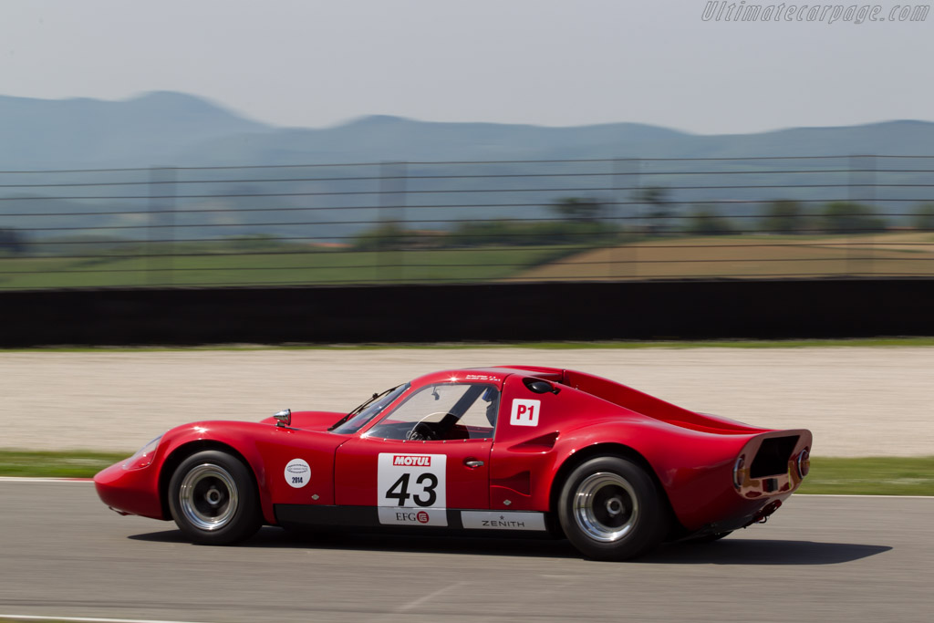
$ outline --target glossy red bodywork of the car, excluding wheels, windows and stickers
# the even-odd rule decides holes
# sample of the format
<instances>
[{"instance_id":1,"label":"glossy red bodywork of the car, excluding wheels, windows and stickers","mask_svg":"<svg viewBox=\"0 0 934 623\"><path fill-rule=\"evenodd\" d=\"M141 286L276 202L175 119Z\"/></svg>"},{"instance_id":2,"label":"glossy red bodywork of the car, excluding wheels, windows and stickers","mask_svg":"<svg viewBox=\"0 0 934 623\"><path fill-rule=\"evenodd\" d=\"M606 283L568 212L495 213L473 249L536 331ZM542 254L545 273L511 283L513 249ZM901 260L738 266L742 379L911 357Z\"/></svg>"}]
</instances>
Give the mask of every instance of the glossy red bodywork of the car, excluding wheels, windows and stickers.
<instances>
[{"instance_id":1,"label":"glossy red bodywork of the car, excluding wheels, windows and stickers","mask_svg":"<svg viewBox=\"0 0 934 623\"><path fill-rule=\"evenodd\" d=\"M533 391L529 384L536 379L553 390ZM391 420L418 389L455 382L483 383L502 392L492 438L403 441L368 434ZM525 404L538 409L533 425L531 419L514 423L521 422ZM248 464L263 517L276 525L287 523L285 509L373 509L377 472L384 469L380 455L431 455L436 463L446 457L440 476L444 489L439 489L445 491L444 509L552 517L562 478L575 465L618 455L643 465L656 479L677 520L672 531L677 538L734 530L771 514L807 474L812 443L811 432L803 429L747 426L598 376L534 366L421 376L359 431L329 432L343 417L307 411L292 413L287 427L276 426L274 418L186 424L163 434L144 460L113 465L94 482L104 503L120 513L170 519L166 500L173 470L193 452L223 449ZM311 481L300 488L290 485L287 473L290 461L298 459L310 468ZM411 525L425 523L426 517L418 514ZM398 523L404 522L400 516Z\"/></svg>"}]
</instances>

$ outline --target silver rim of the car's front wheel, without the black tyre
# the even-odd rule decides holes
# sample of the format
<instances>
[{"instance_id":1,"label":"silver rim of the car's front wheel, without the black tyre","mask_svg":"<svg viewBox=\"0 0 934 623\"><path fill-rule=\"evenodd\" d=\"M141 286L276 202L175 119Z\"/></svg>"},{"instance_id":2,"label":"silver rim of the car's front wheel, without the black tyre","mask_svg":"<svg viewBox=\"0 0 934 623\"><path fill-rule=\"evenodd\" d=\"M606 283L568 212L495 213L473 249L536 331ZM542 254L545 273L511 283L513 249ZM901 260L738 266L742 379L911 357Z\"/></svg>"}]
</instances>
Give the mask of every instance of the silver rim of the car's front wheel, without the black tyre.
<instances>
[{"instance_id":1,"label":"silver rim of the car's front wheel, without the black tyre","mask_svg":"<svg viewBox=\"0 0 934 623\"><path fill-rule=\"evenodd\" d=\"M238 500L233 476L212 463L192 467L178 489L182 515L204 531L220 530L229 524Z\"/></svg>"}]
</instances>

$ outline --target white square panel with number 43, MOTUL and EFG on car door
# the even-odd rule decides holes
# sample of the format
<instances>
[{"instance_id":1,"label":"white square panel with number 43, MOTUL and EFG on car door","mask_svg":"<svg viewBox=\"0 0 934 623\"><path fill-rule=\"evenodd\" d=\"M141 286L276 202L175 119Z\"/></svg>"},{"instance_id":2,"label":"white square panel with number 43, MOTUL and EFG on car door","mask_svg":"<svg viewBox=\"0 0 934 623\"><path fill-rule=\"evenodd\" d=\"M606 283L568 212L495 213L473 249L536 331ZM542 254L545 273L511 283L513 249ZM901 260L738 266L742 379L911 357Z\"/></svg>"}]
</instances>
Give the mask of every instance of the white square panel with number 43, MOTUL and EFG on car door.
<instances>
[{"instance_id":1,"label":"white square panel with number 43, MOTUL and EFG on car door","mask_svg":"<svg viewBox=\"0 0 934 623\"><path fill-rule=\"evenodd\" d=\"M447 525L446 455L382 452L376 464L380 523Z\"/></svg>"}]
</instances>

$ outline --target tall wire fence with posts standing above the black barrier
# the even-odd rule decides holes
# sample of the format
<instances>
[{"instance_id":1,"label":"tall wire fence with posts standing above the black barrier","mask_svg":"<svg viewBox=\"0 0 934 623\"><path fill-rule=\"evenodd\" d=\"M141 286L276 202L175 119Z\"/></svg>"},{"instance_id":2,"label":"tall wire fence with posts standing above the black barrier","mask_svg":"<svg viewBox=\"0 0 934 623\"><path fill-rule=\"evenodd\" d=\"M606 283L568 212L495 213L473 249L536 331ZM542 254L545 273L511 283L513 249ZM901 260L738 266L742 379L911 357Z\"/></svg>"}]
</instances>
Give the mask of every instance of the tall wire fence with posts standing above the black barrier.
<instances>
[{"instance_id":1,"label":"tall wire fence with posts standing above the black barrier","mask_svg":"<svg viewBox=\"0 0 934 623\"><path fill-rule=\"evenodd\" d=\"M0 290L934 275L934 157L0 171Z\"/></svg>"}]
</instances>

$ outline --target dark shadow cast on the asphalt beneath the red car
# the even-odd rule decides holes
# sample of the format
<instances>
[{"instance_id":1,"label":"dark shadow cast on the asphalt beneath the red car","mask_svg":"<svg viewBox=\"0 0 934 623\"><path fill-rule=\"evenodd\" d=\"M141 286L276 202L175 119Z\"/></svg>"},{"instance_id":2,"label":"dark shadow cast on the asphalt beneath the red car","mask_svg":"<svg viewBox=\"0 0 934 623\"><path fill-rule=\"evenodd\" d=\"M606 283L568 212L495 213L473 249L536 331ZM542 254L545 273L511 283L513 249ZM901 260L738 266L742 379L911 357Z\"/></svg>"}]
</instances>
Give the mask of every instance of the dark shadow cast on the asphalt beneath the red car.
<instances>
[{"instance_id":1,"label":"dark shadow cast on the asphalt beneath the red car","mask_svg":"<svg viewBox=\"0 0 934 623\"><path fill-rule=\"evenodd\" d=\"M189 543L177 530L148 532L129 536L134 541ZM552 559L580 559L568 541L543 538L502 539L488 536L434 536L378 532L298 533L279 528L263 528L237 545L239 547L331 549L428 554L470 554L474 556L518 556ZM841 564L868 558L891 550L886 545L815 543L813 541L767 541L733 539L715 543L673 543L633 560L649 564L723 565L816 565Z\"/></svg>"}]
</instances>

